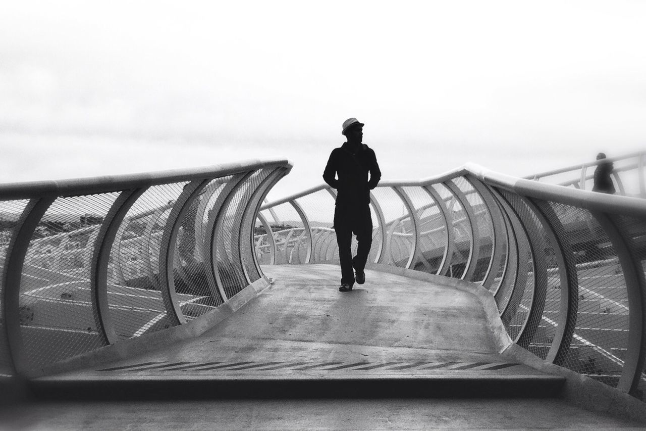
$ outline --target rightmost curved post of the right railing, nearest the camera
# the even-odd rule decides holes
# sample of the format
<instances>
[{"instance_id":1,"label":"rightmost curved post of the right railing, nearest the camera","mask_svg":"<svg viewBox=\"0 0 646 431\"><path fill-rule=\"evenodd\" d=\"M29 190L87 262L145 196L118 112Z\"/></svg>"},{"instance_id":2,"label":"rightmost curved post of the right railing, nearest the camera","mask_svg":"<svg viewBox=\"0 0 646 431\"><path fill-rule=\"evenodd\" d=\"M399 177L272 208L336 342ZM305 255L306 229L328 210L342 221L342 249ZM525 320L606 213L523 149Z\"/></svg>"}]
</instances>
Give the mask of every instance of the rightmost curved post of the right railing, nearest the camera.
<instances>
[{"instance_id":1,"label":"rightmost curved post of the right railing, nearest the camera","mask_svg":"<svg viewBox=\"0 0 646 431\"><path fill-rule=\"evenodd\" d=\"M638 258L638 247L627 229L607 214L592 212L614 247L626 282L629 333L626 357L617 388L634 395L638 389L646 357L646 280Z\"/></svg>"}]
</instances>

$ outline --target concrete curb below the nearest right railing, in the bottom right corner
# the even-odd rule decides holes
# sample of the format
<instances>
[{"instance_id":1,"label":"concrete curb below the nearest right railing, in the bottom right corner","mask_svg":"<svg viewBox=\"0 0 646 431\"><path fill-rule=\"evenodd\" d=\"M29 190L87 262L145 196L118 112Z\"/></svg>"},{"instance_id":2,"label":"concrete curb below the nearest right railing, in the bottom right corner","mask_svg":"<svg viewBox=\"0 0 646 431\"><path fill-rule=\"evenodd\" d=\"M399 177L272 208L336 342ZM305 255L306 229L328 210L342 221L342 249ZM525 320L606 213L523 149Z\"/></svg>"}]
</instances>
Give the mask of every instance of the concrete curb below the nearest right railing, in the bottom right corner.
<instances>
[{"instance_id":1,"label":"concrete curb below the nearest right railing, in the bottom right corner","mask_svg":"<svg viewBox=\"0 0 646 431\"><path fill-rule=\"evenodd\" d=\"M509 346L503 352L503 357L548 374L565 377L565 386L563 386L561 397L569 403L592 412L603 412L620 419L632 419L646 423L646 404L625 392L567 368L545 362L517 344Z\"/></svg>"}]
</instances>

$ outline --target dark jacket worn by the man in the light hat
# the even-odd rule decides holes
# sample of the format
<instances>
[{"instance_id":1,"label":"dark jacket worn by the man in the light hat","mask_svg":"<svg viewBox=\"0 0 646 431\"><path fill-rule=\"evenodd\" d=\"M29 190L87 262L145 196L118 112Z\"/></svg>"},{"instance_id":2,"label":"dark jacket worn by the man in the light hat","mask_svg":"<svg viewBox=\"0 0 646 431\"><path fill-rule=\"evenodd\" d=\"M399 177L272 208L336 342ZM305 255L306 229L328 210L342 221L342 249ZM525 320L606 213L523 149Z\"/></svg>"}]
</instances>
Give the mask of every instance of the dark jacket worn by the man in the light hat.
<instances>
[{"instance_id":1,"label":"dark jacket worn by the man in the light hat","mask_svg":"<svg viewBox=\"0 0 646 431\"><path fill-rule=\"evenodd\" d=\"M337 205L369 204L370 190L377 187L381 179L375 151L362 144L359 151L353 154L350 144L345 142L330 153L328 164L323 171L323 179L329 186L337 189Z\"/></svg>"}]
</instances>

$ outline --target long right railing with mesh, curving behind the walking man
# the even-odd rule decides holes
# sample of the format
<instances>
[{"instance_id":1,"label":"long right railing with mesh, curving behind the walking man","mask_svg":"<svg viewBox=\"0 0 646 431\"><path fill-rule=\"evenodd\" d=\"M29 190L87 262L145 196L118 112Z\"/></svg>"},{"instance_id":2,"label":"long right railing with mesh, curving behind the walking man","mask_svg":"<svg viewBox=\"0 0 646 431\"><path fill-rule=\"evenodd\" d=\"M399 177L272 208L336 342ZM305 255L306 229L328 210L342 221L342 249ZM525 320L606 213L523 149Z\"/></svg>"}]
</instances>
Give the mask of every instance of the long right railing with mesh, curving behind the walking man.
<instances>
[{"instance_id":1,"label":"long right railing with mesh, curving behind the walking man","mask_svg":"<svg viewBox=\"0 0 646 431\"><path fill-rule=\"evenodd\" d=\"M258 261L338 263L333 194L324 184L261 206ZM643 398L646 200L469 164L381 182L371 211L371 263L480 283L514 342Z\"/></svg>"}]
</instances>

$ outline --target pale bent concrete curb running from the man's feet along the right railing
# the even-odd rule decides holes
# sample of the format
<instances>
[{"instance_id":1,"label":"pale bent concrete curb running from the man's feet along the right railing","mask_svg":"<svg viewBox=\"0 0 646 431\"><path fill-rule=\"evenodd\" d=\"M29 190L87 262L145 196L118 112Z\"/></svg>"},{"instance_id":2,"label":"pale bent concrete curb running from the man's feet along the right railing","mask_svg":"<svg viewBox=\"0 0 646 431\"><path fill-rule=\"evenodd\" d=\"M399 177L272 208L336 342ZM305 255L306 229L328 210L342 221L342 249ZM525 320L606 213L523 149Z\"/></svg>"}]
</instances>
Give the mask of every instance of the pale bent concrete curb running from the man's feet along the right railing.
<instances>
[{"instance_id":1,"label":"pale bent concrete curb running from the man's feet along the right railing","mask_svg":"<svg viewBox=\"0 0 646 431\"><path fill-rule=\"evenodd\" d=\"M482 304L483 306L486 322L491 330L492 335L494 335L495 347L498 353L502 353L506 348L514 344L512 339L507 334L505 326L503 325L503 321L500 320L500 313L498 311L498 306L495 304L494 296L481 285L471 282L465 282L464 280L459 280L457 278L438 276L434 274L428 274L426 272L415 271L414 269L384 265L382 263L368 263L368 265L366 265L366 269L388 272L390 274L401 275L424 282L438 283L448 287L455 287L455 289L459 289L460 291L466 293L474 294L475 296L477 296L480 304Z\"/></svg>"}]
</instances>

